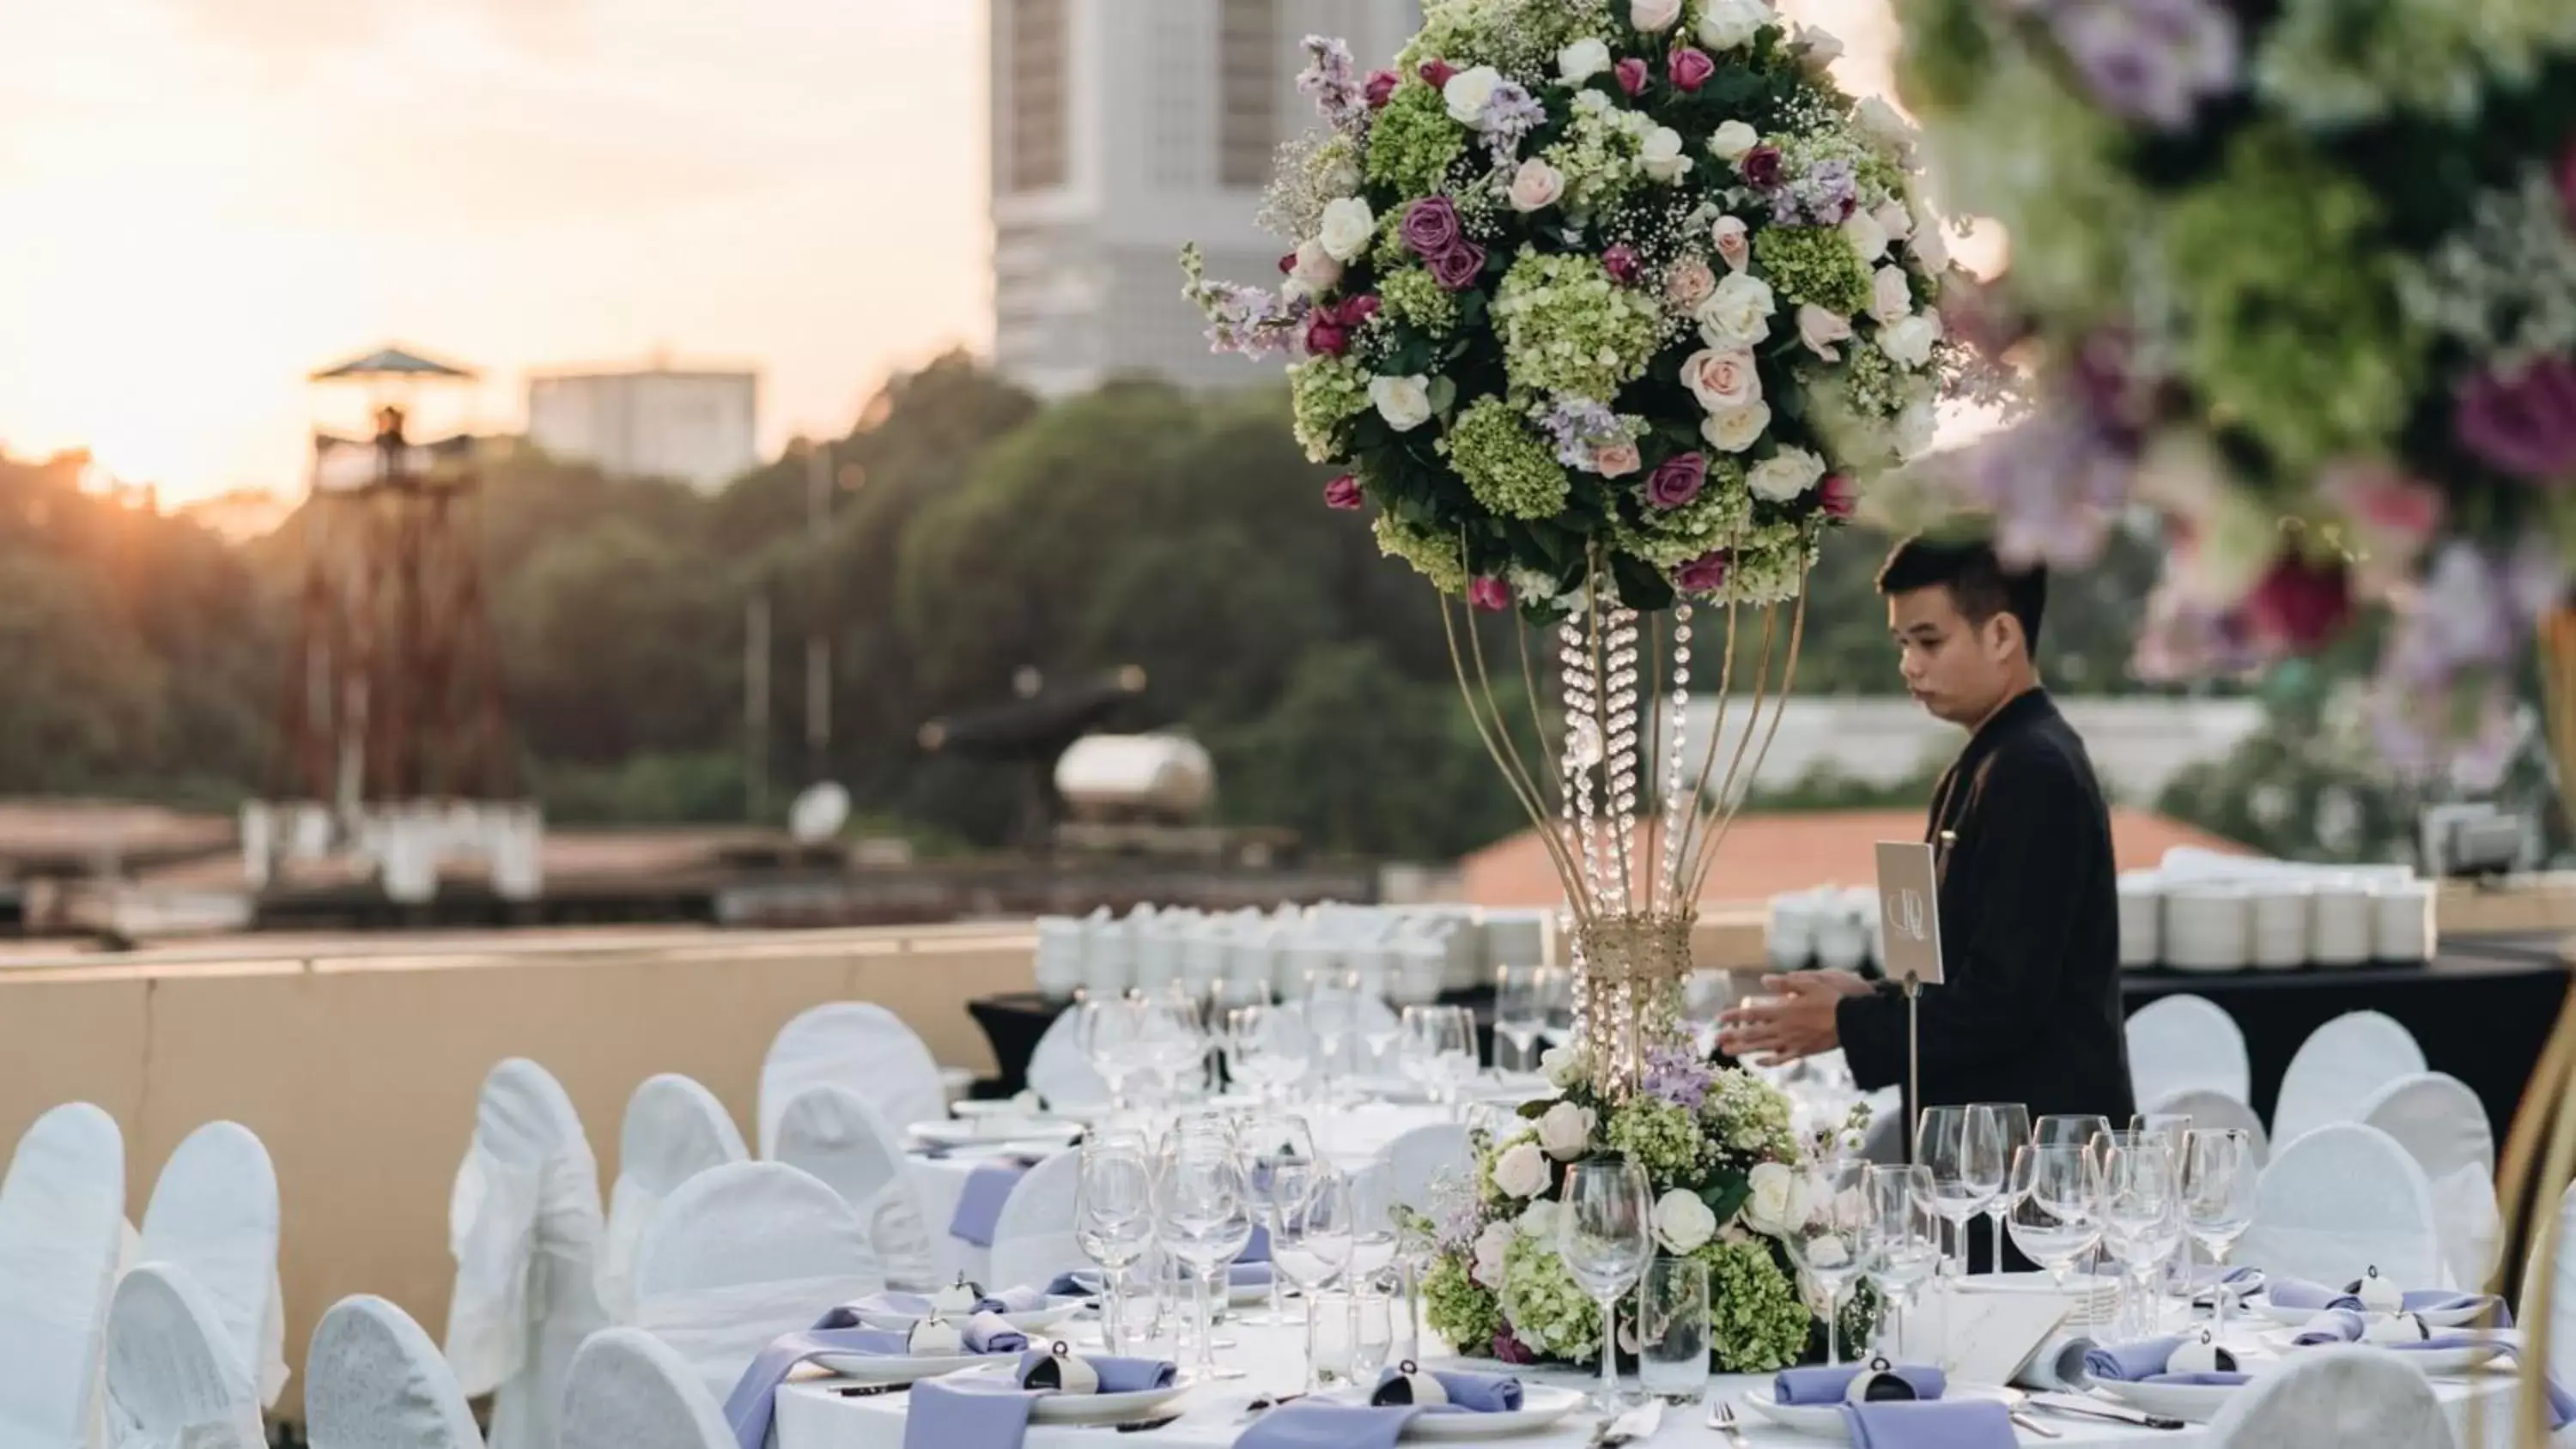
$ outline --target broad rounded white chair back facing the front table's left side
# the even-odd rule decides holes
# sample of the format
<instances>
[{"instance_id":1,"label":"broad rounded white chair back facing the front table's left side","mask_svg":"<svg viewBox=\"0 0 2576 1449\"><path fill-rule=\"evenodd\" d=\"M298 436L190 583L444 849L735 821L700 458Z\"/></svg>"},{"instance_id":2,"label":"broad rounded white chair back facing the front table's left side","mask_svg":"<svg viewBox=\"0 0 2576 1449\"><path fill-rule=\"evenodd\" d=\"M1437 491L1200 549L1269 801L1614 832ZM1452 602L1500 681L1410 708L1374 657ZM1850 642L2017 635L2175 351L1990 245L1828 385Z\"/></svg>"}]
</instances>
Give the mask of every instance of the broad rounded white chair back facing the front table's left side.
<instances>
[{"instance_id":1,"label":"broad rounded white chair back facing the front table's left side","mask_svg":"<svg viewBox=\"0 0 2576 1449\"><path fill-rule=\"evenodd\" d=\"M634 1325L724 1403L770 1338L811 1328L886 1277L837 1192L786 1163L729 1163L662 1199L636 1243L634 1284Z\"/></svg>"}]
</instances>

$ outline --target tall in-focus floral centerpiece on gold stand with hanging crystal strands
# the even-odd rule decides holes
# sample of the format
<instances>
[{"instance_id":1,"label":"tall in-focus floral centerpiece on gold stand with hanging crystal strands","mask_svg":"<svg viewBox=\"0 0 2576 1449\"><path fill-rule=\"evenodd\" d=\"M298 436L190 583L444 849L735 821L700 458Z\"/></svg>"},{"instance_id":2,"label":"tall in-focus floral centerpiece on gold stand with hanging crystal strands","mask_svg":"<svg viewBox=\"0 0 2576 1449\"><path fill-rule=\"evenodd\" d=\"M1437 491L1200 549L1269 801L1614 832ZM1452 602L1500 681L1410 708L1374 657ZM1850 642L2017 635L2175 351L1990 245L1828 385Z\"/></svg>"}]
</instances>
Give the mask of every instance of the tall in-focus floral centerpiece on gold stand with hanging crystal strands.
<instances>
[{"instance_id":1,"label":"tall in-focus floral centerpiece on gold stand with hanging crystal strands","mask_svg":"<svg viewBox=\"0 0 2576 1449\"><path fill-rule=\"evenodd\" d=\"M1664 1248L1716 1271L1718 1359L1790 1361L1811 1315L1759 1230L1759 1181L1798 1156L1788 1104L1695 1066L1680 981L1819 540L1971 378L1909 129L1834 88L1832 36L1759 0L1427 0L1386 69L1306 49L1321 126L1265 206L1280 278L1211 281L1193 247L1188 296L1218 350L1288 363L1296 435L1340 468L1324 502L1373 510L1381 548L1437 589L1571 927L1564 1099L1484 1143L1435 1323L1468 1349L1597 1346L1543 1199L1564 1161L1623 1150L1664 1199ZM1476 610L1517 615L1512 659L1489 659ZM1698 749L1695 638L1718 651ZM1494 679L1515 672L1507 705Z\"/></svg>"}]
</instances>

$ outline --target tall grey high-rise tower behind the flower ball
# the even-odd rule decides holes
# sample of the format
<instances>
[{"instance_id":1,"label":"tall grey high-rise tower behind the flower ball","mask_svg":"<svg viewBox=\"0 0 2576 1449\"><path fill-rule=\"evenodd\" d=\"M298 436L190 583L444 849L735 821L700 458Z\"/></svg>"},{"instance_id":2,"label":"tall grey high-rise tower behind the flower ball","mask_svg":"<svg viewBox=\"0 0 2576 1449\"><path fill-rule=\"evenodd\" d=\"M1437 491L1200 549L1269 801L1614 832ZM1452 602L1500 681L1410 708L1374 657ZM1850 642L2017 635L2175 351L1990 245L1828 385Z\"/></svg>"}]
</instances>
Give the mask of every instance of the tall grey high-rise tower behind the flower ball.
<instances>
[{"instance_id":1,"label":"tall grey high-rise tower behind the flower ball","mask_svg":"<svg viewBox=\"0 0 2576 1449\"><path fill-rule=\"evenodd\" d=\"M1288 242L1255 224L1273 154L1316 126L1301 41L1342 36L1360 72L1422 26L1417 0L989 0L994 360L1064 394L1121 373L1242 386L1180 296L1208 275L1275 281Z\"/></svg>"}]
</instances>

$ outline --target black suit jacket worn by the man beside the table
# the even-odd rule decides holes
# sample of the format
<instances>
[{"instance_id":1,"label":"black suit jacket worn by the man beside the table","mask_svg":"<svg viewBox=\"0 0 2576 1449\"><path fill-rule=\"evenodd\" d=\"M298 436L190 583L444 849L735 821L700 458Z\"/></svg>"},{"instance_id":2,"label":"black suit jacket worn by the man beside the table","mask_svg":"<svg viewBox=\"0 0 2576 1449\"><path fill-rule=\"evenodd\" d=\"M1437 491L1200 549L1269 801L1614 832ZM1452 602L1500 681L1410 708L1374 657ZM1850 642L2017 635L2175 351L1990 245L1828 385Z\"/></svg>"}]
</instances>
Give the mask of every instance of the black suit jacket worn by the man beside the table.
<instances>
[{"instance_id":1,"label":"black suit jacket worn by the man beside the table","mask_svg":"<svg viewBox=\"0 0 2576 1449\"><path fill-rule=\"evenodd\" d=\"M1947 831L1947 834L1945 834ZM1922 1104L2022 1102L2125 1127L2120 893L2084 741L2043 690L1989 718L1932 795L1942 986L1922 988ZM1862 1089L1906 1081L1893 983L1834 1014ZM1911 1138L1917 1104L1906 1104Z\"/></svg>"}]
</instances>

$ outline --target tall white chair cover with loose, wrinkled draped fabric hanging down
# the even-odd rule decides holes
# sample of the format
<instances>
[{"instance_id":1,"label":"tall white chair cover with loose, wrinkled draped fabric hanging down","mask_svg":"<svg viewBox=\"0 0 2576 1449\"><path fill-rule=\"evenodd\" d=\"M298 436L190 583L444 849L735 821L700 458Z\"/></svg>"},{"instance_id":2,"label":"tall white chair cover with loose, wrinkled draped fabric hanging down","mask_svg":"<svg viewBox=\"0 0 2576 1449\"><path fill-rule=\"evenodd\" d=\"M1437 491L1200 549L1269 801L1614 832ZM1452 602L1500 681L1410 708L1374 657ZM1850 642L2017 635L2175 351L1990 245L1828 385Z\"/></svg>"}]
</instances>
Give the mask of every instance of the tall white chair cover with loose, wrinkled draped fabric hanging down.
<instances>
[{"instance_id":1,"label":"tall white chair cover with loose, wrinkled draped fabric hanging down","mask_svg":"<svg viewBox=\"0 0 2576 1449\"><path fill-rule=\"evenodd\" d=\"M448 1361L492 1395L492 1449L554 1449L564 1374L600 1310L600 1166L564 1086L533 1060L484 1076L448 1197Z\"/></svg>"}]
</instances>

